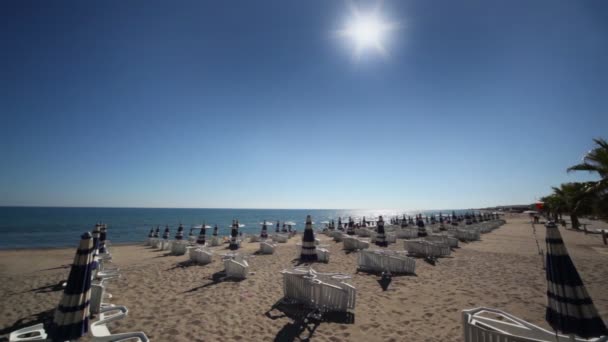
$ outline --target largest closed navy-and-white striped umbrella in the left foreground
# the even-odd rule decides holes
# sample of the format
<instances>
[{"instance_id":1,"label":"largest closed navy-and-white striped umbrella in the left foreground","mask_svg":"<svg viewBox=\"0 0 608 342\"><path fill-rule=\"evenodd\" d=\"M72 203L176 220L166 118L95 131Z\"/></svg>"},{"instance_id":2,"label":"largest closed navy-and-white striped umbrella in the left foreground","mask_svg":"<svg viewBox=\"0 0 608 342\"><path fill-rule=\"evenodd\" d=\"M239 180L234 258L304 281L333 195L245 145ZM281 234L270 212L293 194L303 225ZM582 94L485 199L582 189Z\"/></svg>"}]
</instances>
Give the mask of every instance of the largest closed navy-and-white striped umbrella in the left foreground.
<instances>
[{"instance_id":1,"label":"largest closed navy-and-white striped umbrella in the left foreground","mask_svg":"<svg viewBox=\"0 0 608 342\"><path fill-rule=\"evenodd\" d=\"M93 239L87 232L81 236L63 296L53 316L49 329L53 341L76 340L89 330L93 251Z\"/></svg>"}]
</instances>

